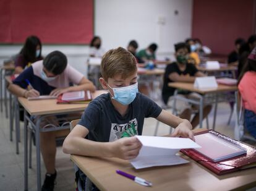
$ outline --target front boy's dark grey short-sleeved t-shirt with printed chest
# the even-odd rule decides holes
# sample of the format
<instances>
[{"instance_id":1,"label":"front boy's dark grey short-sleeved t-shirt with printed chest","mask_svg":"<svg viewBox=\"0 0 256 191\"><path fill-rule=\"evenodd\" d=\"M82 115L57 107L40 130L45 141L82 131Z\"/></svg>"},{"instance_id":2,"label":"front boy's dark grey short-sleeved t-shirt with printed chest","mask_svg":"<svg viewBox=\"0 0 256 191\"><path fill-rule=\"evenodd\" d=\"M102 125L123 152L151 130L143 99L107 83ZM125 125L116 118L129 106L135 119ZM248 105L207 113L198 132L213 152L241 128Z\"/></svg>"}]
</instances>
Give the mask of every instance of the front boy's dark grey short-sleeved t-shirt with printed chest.
<instances>
[{"instance_id":1,"label":"front boy's dark grey short-sleeved t-shirt with printed chest","mask_svg":"<svg viewBox=\"0 0 256 191\"><path fill-rule=\"evenodd\" d=\"M129 104L129 111L121 116L111 103L111 95L95 98L83 112L79 124L89 130L87 138L96 142L113 142L121 138L126 130L134 127L142 135L145 117L158 117L162 109L142 93Z\"/></svg>"}]
</instances>

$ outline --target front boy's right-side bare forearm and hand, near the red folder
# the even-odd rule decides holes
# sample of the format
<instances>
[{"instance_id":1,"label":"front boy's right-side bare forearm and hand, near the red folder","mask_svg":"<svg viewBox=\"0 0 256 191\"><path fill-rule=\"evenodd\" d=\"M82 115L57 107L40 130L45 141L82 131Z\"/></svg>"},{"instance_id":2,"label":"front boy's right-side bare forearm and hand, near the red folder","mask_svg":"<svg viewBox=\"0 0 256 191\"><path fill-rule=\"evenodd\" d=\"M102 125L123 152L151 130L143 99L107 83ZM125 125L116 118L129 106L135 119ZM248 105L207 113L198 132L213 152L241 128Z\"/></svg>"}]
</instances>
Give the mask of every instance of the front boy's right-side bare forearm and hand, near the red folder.
<instances>
[{"instance_id":1,"label":"front boy's right-side bare forearm and hand, near the red folder","mask_svg":"<svg viewBox=\"0 0 256 191\"><path fill-rule=\"evenodd\" d=\"M187 119L176 117L164 109L156 119L175 128L172 137L188 137L195 140L192 133L192 125L187 121Z\"/></svg>"}]
</instances>

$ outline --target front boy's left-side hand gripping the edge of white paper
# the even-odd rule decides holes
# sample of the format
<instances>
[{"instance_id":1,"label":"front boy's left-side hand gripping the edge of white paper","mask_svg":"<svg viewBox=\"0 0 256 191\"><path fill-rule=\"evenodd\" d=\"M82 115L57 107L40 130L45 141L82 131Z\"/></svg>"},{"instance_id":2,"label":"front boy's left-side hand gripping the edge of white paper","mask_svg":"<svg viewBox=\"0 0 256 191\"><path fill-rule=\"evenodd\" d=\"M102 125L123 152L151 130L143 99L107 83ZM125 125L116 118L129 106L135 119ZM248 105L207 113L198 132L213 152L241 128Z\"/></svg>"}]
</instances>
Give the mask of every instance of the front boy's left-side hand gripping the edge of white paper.
<instances>
[{"instance_id":1,"label":"front boy's left-side hand gripping the edge of white paper","mask_svg":"<svg viewBox=\"0 0 256 191\"><path fill-rule=\"evenodd\" d=\"M113 142L113 156L121 159L133 159L139 155L142 144L136 137L120 138Z\"/></svg>"}]
</instances>

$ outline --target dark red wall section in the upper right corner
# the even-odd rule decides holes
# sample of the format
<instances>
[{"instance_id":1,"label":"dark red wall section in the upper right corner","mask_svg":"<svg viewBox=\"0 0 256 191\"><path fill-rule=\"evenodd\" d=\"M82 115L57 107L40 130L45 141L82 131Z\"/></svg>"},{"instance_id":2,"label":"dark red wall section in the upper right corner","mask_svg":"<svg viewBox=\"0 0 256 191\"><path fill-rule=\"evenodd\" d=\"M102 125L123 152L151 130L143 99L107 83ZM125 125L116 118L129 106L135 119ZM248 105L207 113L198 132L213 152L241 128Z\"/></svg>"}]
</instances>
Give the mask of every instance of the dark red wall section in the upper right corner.
<instances>
[{"instance_id":1,"label":"dark red wall section in the upper right corner","mask_svg":"<svg viewBox=\"0 0 256 191\"><path fill-rule=\"evenodd\" d=\"M192 37L213 53L228 54L236 38L255 33L254 6L254 0L194 0Z\"/></svg>"}]
</instances>

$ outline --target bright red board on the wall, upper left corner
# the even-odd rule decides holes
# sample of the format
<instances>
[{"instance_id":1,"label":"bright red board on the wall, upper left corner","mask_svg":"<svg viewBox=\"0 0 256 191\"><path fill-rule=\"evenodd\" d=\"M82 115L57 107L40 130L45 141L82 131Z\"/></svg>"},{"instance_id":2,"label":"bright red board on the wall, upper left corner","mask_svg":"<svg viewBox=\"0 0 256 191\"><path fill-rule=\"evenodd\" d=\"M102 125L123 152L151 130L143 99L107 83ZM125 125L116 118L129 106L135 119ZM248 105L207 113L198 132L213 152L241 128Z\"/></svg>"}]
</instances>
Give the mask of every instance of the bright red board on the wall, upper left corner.
<instances>
[{"instance_id":1,"label":"bright red board on the wall, upper left corner","mask_svg":"<svg viewBox=\"0 0 256 191\"><path fill-rule=\"evenodd\" d=\"M85 44L93 37L93 0L0 0L0 43Z\"/></svg>"}]
</instances>

